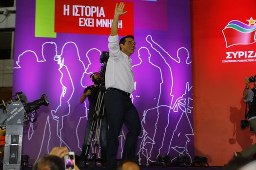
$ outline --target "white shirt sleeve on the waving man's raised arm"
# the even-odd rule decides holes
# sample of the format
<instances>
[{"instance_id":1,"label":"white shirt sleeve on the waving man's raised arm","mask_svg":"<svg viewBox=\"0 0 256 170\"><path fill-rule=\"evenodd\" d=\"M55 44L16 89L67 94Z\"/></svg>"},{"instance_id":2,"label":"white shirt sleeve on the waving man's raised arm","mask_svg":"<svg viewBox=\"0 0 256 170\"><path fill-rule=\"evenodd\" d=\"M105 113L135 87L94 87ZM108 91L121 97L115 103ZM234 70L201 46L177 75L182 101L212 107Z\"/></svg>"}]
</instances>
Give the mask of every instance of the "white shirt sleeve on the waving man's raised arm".
<instances>
[{"instance_id":1,"label":"white shirt sleeve on the waving man's raised arm","mask_svg":"<svg viewBox=\"0 0 256 170\"><path fill-rule=\"evenodd\" d=\"M112 57L114 60L118 60L120 58L120 47L118 42L118 35L109 36L108 37L108 49L109 49L109 57Z\"/></svg>"}]
</instances>

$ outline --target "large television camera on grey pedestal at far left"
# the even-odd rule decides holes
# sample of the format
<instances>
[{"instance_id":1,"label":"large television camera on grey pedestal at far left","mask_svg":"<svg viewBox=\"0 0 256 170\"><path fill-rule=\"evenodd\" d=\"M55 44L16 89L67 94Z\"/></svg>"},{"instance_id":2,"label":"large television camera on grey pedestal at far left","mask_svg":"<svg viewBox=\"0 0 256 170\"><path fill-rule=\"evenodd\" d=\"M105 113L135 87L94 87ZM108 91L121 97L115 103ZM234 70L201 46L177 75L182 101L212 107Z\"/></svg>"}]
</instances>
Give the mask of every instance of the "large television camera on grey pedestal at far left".
<instances>
[{"instance_id":1,"label":"large television camera on grey pedestal at far left","mask_svg":"<svg viewBox=\"0 0 256 170\"><path fill-rule=\"evenodd\" d=\"M11 101L0 103L0 127L6 128L3 157L3 170L20 170L21 148L24 123L35 122L37 109L47 106L45 94L34 102L28 102L24 93L18 92Z\"/></svg>"}]
</instances>

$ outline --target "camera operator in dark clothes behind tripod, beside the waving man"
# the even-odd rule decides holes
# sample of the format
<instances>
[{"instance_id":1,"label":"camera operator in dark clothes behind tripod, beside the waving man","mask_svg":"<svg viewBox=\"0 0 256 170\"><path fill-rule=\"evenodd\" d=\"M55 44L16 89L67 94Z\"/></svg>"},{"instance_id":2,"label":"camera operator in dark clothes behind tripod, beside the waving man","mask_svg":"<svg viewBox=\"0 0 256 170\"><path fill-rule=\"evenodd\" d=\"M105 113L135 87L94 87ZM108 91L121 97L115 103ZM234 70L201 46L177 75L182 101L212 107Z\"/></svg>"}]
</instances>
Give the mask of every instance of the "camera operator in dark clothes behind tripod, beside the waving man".
<instances>
[{"instance_id":1,"label":"camera operator in dark clothes behind tripod, beside the waving man","mask_svg":"<svg viewBox=\"0 0 256 170\"><path fill-rule=\"evenodd\" d=\"M79 160L84 160L86 147L87 147L87 140L90 134L90 129L93 122L93 116L95 114L95 106L98 99L98 93L100 90L100 84L101 84L101 76L100 73L95 72L90 75L91 80L93 81L93 85L90 85L85 88L83 91L83 95L80 98L80 102L84 102L85 99L88 97L89 101L89 114L85 129L85 137L83 141L83 147L82 147L82 153L79 156ZM107 146L107 119L104 115L101 119L101 127L100 127L100 149L101 149L101 158L103 159L103 164L106 162L106 146Z\"/></svg>"}]
</instances>

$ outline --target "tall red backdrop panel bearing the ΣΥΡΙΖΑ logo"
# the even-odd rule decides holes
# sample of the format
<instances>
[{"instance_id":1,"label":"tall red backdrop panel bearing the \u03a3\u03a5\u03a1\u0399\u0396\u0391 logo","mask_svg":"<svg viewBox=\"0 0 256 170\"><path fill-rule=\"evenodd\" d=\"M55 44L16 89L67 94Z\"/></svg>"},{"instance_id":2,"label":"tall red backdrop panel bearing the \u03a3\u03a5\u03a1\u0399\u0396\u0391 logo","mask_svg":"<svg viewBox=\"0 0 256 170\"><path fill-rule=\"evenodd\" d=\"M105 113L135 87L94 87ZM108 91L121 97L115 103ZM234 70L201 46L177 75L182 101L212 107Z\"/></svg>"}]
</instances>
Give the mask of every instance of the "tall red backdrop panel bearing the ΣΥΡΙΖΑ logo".
<instances>
[{"instance_id":1,"label":"tall red backdrop panel bearing the \u03a3\u03a5\u03a1\u0399\u0396\u0391 logo","mask_svg":"<svg viewBox=\"0 0 256 170\"><path fill-rule=\"evenodd\" d=\"M223 166L255 143L240 120L245 77L256 74L256 0L191 0L191 6L195 155Z\"/></svg>"}]
</instances>

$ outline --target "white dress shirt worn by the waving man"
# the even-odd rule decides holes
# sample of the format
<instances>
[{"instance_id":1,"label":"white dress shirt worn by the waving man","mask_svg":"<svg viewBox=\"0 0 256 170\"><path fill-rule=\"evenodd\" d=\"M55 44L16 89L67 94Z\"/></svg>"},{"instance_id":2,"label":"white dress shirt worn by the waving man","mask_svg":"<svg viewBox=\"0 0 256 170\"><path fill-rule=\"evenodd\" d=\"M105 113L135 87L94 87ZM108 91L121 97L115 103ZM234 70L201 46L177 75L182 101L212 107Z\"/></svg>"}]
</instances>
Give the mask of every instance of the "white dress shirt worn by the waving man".
<instances>
[{"instance_id":1,"label":"white dress shirt worn by the waving man","mask_svg":"<svg viewBox=\"0 0 256 170\"><path fill-rule=\"evenodd\" d=\"M106 89L114 87L132 93L134 91L132 59L120 50L118 35L109 36L108 48L109 59L105 74Z\"/></svg>"}]
</instances>

